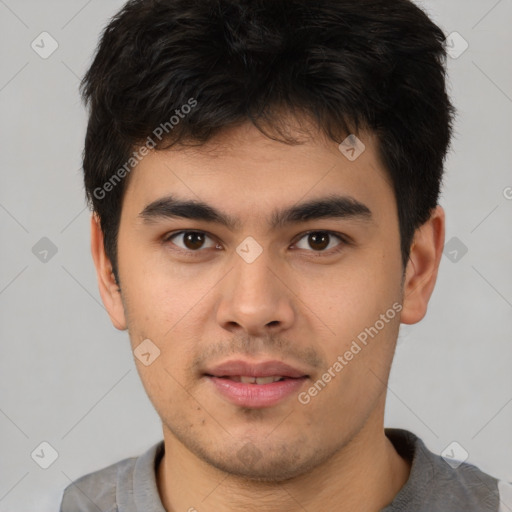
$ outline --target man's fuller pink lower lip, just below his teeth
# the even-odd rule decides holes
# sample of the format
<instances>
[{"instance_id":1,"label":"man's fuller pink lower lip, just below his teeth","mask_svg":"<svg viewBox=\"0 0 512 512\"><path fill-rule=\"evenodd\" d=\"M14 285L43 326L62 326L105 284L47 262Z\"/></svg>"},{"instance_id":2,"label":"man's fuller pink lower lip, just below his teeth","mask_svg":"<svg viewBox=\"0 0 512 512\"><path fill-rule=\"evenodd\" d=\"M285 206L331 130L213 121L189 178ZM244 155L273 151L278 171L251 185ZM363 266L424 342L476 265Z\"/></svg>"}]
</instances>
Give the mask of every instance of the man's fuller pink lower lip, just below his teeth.
<instances>
[{"instance_id":1,"label":"man's fuller pink lower lip, just below his teeth","mask_svg":"<svg viewBox=\"0 0 512 512\"><path fill-rule=\"evenodd\" d=\"M240 407L254 409L271 407L278 404L293 393L297 393L304 385L307 377L285 379L270 384L246 384L222 377L207 376L217 390L230 402Z\"/></svg>"}]
</instances>

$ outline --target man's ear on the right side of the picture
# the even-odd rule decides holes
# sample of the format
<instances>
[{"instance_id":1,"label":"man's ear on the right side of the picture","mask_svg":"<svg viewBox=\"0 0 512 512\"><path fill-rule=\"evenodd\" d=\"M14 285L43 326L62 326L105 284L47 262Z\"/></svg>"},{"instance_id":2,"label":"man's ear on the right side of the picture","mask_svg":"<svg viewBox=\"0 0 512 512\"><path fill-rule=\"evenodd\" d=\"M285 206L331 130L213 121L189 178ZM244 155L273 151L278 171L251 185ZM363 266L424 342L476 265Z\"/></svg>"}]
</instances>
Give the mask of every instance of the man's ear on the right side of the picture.
<instances>
[{"instance_id":1,"label":"man's ear on the right side of the picture","mask_svg":"<svg viewBox=\"0 0 512 512\"><path fill-rule=\"evenodd\" d=\"M404 299L400 322L415 324L427 312L443 254L445 214L437 206L429 220L414 233L404 280Z\"/></svg>"}]
</instances>

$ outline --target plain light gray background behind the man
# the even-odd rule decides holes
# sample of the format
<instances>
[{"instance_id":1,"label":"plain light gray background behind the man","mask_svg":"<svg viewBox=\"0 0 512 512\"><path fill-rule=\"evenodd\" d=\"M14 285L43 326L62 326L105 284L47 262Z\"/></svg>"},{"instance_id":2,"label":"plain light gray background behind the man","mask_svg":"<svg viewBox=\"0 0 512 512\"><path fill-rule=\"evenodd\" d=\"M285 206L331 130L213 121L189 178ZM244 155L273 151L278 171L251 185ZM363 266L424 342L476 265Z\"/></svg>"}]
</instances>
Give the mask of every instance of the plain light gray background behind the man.
<instances>
[{"instance_id":1,"label":"plain light gray background behind the man","mask_svg":"<svg viewBox=\"0 0 512 512\"><path fill-rule=\"evenodd\" d=\"M0 0L1 512L56 510L71 480L162 436L99 298L80 169L79 78L122 3ZM459 116L441 204L457 259L443 256L427 317L401 332L385 423L437 453L457 441L512 481L512 2L422 5L469 43L448 63ZM31 48L43 31L59 45L47 59ZM42 237L57 248L46 262ZM48 469L31 458L43 441Z\"/></svg>"}]
</instances>

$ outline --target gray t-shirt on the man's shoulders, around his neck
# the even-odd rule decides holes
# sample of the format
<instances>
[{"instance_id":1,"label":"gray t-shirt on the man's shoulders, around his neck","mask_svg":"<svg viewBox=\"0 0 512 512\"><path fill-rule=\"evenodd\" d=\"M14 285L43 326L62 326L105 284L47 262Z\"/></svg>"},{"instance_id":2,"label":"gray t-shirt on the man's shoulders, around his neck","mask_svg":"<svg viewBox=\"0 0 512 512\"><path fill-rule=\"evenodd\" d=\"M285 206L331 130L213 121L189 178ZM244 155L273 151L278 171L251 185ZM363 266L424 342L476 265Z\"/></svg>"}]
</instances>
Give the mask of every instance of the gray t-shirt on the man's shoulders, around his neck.
<instances>
[{"instance_id":1,"label":"gray t-shirt on the man's shoulders, around his neck","mask_svg":"<svg viewBox=\"0 0 512 512\"><path fill-rule=\"evenodd\" d=\"M468 463L453 468L455 464L432 453L412 432L396 428L385 432L412 465L409 479L381 512L512 511L512 484ZM163 453L160 441L139 457L82 476L64 490L60 512L166 512L155 474Z\"/></svg>"}]
</instances>

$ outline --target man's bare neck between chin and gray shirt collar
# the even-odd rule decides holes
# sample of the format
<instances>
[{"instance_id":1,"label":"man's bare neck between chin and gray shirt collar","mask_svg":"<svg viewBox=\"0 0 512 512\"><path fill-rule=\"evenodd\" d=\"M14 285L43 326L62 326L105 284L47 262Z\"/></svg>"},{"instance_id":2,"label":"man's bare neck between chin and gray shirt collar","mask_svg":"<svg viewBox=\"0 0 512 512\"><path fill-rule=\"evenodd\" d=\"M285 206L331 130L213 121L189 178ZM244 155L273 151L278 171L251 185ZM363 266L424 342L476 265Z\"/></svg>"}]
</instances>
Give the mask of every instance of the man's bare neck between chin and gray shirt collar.
<instances>
[{"instance_id":1,"label":"man's bare neck between chin and gray shirt collar","mask_svg":"<svg viewBox=\"0 0 512 512\"><path fill-rule=\"evenodd\" d=\"M165 429L164 443L157 483L167 512L376 512L391 503L410 473L410 463L396 452L382 421L371 419L324 464L282 482L248 480L220 471Z\"/></svg>"}]
</instances>

